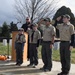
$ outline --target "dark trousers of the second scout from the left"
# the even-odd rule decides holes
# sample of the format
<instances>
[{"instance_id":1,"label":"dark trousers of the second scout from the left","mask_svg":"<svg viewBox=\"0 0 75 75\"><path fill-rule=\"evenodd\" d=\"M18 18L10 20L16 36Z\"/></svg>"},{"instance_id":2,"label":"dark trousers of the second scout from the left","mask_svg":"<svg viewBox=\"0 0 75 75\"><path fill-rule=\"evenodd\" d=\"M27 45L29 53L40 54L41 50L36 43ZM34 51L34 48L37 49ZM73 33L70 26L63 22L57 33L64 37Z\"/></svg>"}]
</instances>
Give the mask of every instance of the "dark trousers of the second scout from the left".
<instances>
[{"instance_id":1,"label":"dark trousers of the second scout from the left","mask_svg":"<svg viewBox=\"0 0 75 75\"><path fill-rule=\"evenodd\" d=\"M29 44L29 56L30 56L30 64L37 65L38 64L38 51L37 44Z\"/></svg>"}]
</instances>

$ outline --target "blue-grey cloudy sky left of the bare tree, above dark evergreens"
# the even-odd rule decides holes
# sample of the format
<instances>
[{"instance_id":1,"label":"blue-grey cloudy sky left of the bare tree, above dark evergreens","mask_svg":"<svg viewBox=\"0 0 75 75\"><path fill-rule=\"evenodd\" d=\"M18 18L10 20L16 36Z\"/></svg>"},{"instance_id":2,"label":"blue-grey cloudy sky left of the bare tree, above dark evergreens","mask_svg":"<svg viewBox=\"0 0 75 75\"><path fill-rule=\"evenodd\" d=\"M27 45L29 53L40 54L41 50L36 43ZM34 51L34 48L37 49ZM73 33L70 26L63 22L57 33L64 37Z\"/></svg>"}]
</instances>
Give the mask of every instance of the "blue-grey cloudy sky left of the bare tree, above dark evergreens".
<instances>
[{"instance_id":1,"label":"blue-grey cloudy sky left of the bare tree, above dark evergreens","mask_svg":"<svg viewBox=\"0 0 75 75\"><path fill-rule=\"evenodd\" d=\"M14 0L0 0L0 26L6 21L15 21Z\"/></svg>"}]
</instances>

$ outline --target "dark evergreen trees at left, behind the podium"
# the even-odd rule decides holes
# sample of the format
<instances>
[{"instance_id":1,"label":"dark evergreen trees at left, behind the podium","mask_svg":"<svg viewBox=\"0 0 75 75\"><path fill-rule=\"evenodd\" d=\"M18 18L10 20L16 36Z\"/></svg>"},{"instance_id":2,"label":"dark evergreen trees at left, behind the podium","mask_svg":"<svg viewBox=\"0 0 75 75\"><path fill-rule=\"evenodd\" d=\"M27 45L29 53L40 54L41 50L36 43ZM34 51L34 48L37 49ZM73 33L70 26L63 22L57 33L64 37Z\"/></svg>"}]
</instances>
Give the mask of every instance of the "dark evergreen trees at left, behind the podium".
<instances>
[{"instance_id":1,"label":"dark evergreen trees at left, behind the podium","mask_svg":"<svg viewBox=\"0 0 75 75\"><path fill-rule=\"evenodd\" d=\"M18 27L17 24L14 24L13 22L8 25L6 22L2 24L0 27L0 37L11 37L12 31L17 31Z\"/></svg>"}]
</instances>

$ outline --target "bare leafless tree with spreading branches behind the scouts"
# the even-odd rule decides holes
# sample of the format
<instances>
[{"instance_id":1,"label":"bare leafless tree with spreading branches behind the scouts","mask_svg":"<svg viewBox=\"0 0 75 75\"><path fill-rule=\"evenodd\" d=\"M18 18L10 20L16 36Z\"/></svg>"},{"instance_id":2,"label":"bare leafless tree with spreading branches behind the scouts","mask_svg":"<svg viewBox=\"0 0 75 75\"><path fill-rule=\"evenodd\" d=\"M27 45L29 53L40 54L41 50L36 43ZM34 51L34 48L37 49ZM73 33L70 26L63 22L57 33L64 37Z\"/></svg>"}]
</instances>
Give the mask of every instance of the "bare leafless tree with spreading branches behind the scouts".
<instances>
[{"instance_id":1,"label":"bare leafless tree with spreading branches behind the scouts","mask_svg":"<svg viewBox=\"0 0 75 75\"><path fill-rule=\"evenodd\" d=\"M58 8L59 1L60 0L15 0L16 18L22 22L26 17L30 17L32 22L45 17L52 18Z\"/></svg>"}]
</instances>

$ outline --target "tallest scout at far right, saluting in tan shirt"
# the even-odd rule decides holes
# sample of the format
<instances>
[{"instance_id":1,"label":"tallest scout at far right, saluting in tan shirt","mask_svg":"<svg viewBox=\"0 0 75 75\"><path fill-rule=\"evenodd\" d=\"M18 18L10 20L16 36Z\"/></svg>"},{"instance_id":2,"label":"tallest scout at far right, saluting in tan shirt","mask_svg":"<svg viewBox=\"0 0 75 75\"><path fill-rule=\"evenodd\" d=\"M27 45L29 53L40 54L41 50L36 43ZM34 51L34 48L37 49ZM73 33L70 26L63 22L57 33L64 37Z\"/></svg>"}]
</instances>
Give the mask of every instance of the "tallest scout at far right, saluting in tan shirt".
<instances>
[{"instance_id":1,"label":"tallest scout at far right, saluting in tan shirt","mask_svg":"<svg viewBox=\"0 0 75 75\"><path fill-rule=\"evenodd\" d=\"M74 42L74 26L68 14L63 16L63 23L56 26L60 34L60 60L62 72L57 75L68 75L70 71L71 49Z\"/></svg>"}]
</instances>

